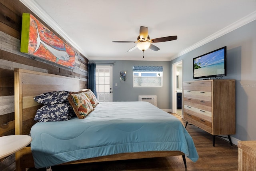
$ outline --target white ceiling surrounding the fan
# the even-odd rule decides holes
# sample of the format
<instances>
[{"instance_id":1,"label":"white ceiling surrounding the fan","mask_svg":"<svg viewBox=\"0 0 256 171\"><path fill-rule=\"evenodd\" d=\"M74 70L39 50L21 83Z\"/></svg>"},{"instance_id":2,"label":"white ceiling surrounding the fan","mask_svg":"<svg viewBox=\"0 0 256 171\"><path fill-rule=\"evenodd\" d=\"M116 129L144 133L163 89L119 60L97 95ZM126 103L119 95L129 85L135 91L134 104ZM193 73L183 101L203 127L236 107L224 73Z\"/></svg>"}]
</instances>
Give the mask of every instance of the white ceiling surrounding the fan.
<instances>
[{"instance_id":1,"label":"white ceiling surrounding the fan","mask_svg":"<svg viewBox=\"0 0 256 171\"><path fill-rule=\"evenodd\" d=\"M256 0L20 0L88 60L170 61L256 19ZM140 26L158 51L135 49Z\"/></svg>"}]
</instances>

